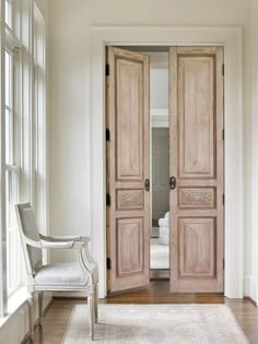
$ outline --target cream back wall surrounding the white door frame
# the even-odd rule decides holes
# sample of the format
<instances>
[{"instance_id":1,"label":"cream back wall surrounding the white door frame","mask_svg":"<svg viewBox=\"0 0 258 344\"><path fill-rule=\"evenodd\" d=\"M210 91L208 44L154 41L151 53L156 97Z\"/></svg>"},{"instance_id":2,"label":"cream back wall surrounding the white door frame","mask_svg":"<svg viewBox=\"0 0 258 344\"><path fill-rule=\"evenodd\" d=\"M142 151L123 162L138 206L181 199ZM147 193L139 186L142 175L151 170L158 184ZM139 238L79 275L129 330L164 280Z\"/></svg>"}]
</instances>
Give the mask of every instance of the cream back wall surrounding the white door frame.
<instances>
[{"instance_id":1,"label":"cream back wall surrounding the white door frame","mask_svg":"<svg viewBox=\"0 0 258 344\"><path fill-rule=\"evenodd\" d=\"M251 3L256 5L256 0ZM244 27L245 274L254 264L251 188L250 0L51 0L50 2L50 230L91 235L90 25L241 25ZM256 21L257 22L257 21ZM255 24L255 17L253 17ZM255 33L255 27L253 27ZM254 36L255 37L255 36ZM253 38L255 39L255 38ZM253 51L255 56L255 51ZM99 132L99 135L102 133ZM95 157L98 158L98 157ZM236 153L237 158L237 153ZM236 186L237 187L237 186ZM251 222L253 221L253 222ZM54 261L68 259L52 253ZM253 258L254 260L254 258Z\"/></svg>"}]
</instances>

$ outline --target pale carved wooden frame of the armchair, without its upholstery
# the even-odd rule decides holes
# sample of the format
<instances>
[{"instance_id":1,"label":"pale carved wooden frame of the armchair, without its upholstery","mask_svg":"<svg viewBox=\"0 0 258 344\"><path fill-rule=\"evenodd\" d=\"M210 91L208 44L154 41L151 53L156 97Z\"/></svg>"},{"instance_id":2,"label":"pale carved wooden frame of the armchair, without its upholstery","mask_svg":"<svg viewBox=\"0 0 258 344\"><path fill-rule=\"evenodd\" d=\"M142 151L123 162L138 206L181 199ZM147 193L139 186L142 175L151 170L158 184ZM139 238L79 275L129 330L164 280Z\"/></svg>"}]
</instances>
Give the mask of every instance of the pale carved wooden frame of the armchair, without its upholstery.
<instances>
[{"instance_id":1,"label":"pale carved wooden frame of the armchair, without its upholstery","mask_svg":"<svg viewBox=\"0 0 258 344\"><path fill-rule=\"evenodd\" d=\"M90 250L89 250L89 237L81 236L66 236L66 237L52 237L44 236L39 233L39 241L32 240L28 238L23 230L23 223L21 212L24 210L32 209L30 203L15 204L15 212L17 217L17 224L20 228L20 236L23 247L23 253L25 257L26 272L27 272L27 290L28 290L28 317L30 317L30 334L31 339L34 339L34 295L38 293L38 313L39 313L39 325L42 325L43 320L43 293L44 292L85 292L87 296L89 304L89 318L90 318L90 337L94 340L94 324L97 323L98 318L98 271L97 264L93 260ZM35 228L37 229L37 228ZM84 285L40 285L35 282L35 271L30 260L30 253L27 247L35 247L38 249L66 249L66 250L75 250L78 262L80 266L87 276L87 283Z\"/></svg>"}]
</instances>

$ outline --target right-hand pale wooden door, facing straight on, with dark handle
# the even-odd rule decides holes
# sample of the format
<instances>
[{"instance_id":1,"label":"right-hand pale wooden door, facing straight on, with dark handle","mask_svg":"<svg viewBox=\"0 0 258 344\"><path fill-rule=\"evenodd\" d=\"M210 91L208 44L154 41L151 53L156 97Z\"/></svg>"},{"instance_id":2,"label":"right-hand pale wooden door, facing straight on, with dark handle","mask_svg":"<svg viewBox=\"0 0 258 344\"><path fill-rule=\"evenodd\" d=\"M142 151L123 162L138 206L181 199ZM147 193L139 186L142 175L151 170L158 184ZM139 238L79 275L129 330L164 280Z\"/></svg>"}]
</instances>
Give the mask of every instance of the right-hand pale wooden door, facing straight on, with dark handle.
<instances>
[{"instance_id":1,"label":"right-hand pale wooden door, facing straight on, with dark handle","mask_svg":"<svg viewBox=\"0 0 258 344\"><path fill-rule=\"evenodd\" d=\"M171 292L223 292L223 48L173 47Z\"/></svg>"}]
</instances>

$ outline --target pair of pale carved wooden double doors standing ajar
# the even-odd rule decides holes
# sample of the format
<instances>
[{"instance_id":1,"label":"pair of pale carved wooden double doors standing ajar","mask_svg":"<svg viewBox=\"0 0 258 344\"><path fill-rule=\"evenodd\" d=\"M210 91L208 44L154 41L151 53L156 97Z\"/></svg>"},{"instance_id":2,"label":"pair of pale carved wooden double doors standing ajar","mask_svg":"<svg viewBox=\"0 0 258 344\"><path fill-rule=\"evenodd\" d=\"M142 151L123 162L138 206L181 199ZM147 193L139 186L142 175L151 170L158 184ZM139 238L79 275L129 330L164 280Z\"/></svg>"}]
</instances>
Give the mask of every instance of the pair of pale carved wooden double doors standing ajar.
<instances>
[{"instance_id":1,"label":"pair of pale carved wooden double doors standing ajar","mask_svg":"<svg viewBox=\"0 0 258 344\"><path fill-rule=\"evenodd\" d=\"M150 66L107 49L108 292L149 284ZM223 292L223 48L169 49L171 290Z\"/></svg>"}]
</instances>

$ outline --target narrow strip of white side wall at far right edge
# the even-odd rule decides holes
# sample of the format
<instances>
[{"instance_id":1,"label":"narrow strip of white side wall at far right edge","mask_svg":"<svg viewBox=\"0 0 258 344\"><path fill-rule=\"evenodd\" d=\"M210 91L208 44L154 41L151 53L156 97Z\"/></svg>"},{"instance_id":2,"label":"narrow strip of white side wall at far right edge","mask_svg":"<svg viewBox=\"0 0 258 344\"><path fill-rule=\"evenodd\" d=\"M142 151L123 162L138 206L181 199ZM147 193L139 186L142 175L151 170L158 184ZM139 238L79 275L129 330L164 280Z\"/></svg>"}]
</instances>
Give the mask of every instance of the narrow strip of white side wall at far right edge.
<instances>
[{"instance_id":1,"label":"narrow strip of white side wall at far right edge","mask_svg":"<svg viewBox=\"0 0 258 344\"><path fill-rule=\"evenodd\" d=\"M251 0L250 55L246 75L246 290L258 304L258 2Z\"/></svg>"}]
</instances>

